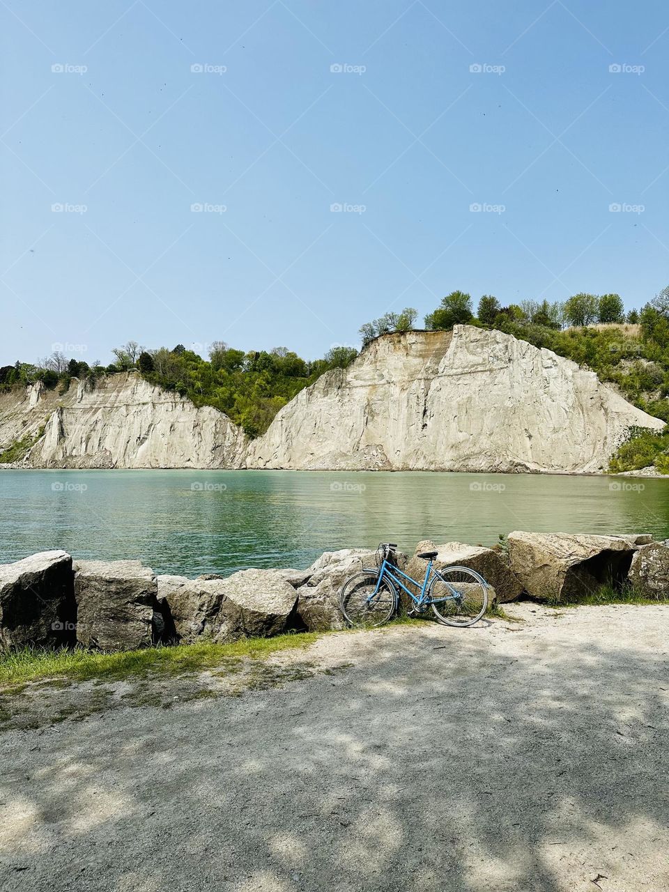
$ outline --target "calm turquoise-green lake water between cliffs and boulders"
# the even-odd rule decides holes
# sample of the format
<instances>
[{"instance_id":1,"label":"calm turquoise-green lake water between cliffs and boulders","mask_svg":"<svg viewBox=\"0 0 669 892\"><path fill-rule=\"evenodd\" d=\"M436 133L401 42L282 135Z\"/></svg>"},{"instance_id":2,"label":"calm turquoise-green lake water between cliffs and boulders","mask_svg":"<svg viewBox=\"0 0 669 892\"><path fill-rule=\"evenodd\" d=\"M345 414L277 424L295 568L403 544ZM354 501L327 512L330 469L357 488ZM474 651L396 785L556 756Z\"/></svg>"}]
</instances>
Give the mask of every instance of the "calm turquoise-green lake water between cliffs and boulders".
<instances>
[{"instance_id":1,"label":"calm turquoise-green lake water between cliffs and boulders","mask_svg":"<svg viewBox=\"0 0 669 892\"><path fill-rule=\"evenodd\" d=\"M157 573L308 566L393 541L511 530L669 537L669 481L319 471L0 471L0 562L61 548Z\"/></svg>"}]
</instances>

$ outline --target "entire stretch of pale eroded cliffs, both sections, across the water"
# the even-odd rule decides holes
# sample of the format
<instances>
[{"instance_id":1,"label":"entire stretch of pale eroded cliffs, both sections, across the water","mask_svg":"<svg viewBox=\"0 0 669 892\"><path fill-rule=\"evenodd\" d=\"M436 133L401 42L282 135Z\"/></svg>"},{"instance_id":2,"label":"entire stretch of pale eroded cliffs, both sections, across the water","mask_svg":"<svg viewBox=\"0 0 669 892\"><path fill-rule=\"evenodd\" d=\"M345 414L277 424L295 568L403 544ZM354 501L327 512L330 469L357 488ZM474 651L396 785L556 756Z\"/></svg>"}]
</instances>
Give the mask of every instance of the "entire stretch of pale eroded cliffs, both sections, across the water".
<instances>
[{"instance_id":1,"label":"entire stretch of pale eroded cliffs, both sections, across the water","mask_svg":"<svg viewBox=\"0 0 669 892\"><path fill-rule=\"evenodd\" d=\"M633 425L664 422L569 359L472 326L378 338L253 442L134 372L0 395L0 450L33 442L31 467L597 472Z\"/></svg>"}]
</instances>

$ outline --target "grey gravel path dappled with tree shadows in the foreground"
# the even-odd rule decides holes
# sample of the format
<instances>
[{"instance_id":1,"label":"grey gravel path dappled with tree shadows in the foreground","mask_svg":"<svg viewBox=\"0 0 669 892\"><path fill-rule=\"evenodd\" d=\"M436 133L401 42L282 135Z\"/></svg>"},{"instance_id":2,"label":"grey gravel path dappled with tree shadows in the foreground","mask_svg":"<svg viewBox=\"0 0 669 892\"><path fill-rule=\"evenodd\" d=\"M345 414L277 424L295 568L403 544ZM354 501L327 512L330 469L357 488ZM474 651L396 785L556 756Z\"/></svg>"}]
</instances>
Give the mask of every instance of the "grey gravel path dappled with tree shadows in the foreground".
<instances>
[{"instance_id":1,"label":"grey gravel path dappled with tree shadows in the foreground","mask_svg":"<svg viewBox=\"0 0 669 892\"><path fill-rule=\"evenodd\" d=\"M666 890L669 607L509 612L328 636L270 690L5 732L0 888Z\"/></svg>"}]
</instances>

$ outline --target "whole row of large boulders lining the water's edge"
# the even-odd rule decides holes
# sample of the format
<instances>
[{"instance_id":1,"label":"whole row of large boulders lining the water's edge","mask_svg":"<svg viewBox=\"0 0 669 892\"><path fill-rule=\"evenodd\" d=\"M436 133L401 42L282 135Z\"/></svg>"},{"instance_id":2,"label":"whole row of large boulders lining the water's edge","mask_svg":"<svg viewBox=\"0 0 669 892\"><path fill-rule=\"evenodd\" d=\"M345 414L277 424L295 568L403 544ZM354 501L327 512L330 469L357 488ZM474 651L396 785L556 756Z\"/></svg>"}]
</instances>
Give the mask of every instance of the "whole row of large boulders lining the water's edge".
<instances>
[{"instance_id":1,"label":"whole row of large boulders lining the water's edge","mask_svg":"<svg viewBox=\"0 0 669 892\"><path fill-rule=\"evenodd\" d=\"M393 557L417 582L425 576L426 558L434 559L437 571L475 570L491 607L524 594L575 604L602 587L607 599L613 589L622 600L634 595L669 603L669 541L653 541L646 533L516 531L507 545L485 549L423 540L412 558L397 551ZM250 568L197 579L156 576L138 560L73 563L64 551L44 551L0 564L0 651L57 648L75 640L86 648L131 650L343 629L340 594L363 567L376 568L375 549L326 551L304 570ZM467 586L459 591L466 593ZM400 612L415 607L399 588L395 605Z\"/></svg>"}]
</instances>

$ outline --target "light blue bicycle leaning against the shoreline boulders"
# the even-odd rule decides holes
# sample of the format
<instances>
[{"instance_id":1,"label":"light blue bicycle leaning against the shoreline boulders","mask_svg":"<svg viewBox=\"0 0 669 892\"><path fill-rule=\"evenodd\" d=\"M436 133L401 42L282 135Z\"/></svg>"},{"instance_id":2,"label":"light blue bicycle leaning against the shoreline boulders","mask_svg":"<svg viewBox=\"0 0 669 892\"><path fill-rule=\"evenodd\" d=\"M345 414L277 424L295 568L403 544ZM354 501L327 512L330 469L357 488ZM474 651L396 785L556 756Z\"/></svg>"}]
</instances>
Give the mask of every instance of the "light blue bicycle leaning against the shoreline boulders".
<instances>
[{"instance_id":1,"label":"light blue bicycle leaning against the shoreline boulders","mask_svg":"<svg viewBox=\"0 0 669 892\"><path fill-rule=\"evenodd\" d=\"M397 566L395 549L392 542L382 542L376 549L376 569L362 569L344 582L339 603L349 625L362 629L387 623L397 610L400 589L413 605L409 614L432 607L440 623L463 628L481 619L488 607L488 583L483 576L467 566L435 570L438 552L424 551L417 557L427 561L425 579L417 582Z\"/></svg>"}]
</instances>

